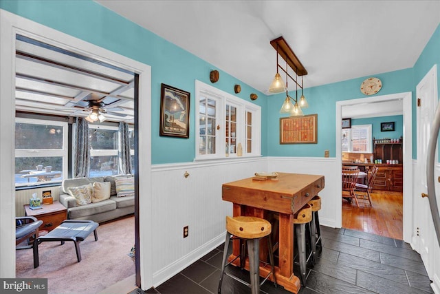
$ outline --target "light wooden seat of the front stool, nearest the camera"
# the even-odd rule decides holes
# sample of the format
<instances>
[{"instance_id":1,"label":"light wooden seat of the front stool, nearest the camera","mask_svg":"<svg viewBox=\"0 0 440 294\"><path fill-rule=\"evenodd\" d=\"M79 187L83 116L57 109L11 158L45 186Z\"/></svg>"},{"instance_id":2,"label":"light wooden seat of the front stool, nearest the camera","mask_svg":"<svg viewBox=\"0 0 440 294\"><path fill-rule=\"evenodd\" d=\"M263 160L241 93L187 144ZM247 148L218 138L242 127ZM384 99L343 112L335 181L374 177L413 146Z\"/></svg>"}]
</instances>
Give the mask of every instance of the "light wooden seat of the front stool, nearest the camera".
<instances>
[{"instance_id":1,"label":"light wooden seat of the front stool, nearest the camera","mask_svg":"<svg viewBox=\"0 0 440 294\"><path fill-rule=\"evenodd\" d=\"M257 239L269 235L272 231L270 222L254 216L226 216L226 230L243 239Z\"/></svg>"}]
</instances>

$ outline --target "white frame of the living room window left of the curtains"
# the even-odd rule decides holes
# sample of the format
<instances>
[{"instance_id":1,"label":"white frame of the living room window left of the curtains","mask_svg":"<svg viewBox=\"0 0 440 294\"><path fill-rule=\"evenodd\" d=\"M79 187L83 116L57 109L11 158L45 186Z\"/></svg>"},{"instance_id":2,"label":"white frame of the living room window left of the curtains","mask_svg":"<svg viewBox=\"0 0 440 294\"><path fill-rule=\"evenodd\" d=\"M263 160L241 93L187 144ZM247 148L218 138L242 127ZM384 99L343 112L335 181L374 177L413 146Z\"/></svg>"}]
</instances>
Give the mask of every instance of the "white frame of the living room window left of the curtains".
<instances>
[{"instance_id":1,"label":"white frame of the living room window left of the curtains","mask_svg":"<svg viewBox=\"0 0 440 294\"><path fill-rule=\"evenodd\" d=\"M63 169L61 174L61 180L51 180L50 182L25 182L23 184L17 184L14 181L14 187L39 187L45 185L53 185L63 182L63 179L67 177L69 171L69 123L59 120L38 119L38 118L22 118L16 116L15 123L26 123L32 125L57 125L63 127L63 148L62 149L15 149L14 158L23 157L61 157L63 158ZM17 131L16 131L17 132Z\"/></svg>"}]
</instances>

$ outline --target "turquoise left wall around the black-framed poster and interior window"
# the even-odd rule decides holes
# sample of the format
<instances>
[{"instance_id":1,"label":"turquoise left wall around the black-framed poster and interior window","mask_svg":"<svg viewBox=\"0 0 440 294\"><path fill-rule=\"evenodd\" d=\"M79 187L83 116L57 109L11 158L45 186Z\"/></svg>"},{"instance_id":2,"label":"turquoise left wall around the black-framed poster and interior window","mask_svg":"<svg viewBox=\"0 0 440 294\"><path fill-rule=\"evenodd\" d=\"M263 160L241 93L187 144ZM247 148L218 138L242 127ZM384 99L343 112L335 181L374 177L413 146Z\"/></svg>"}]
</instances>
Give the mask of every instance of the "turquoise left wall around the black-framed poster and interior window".
<instances>
[{"instance_id":1,"label":"turquoise left wall around the black-framed poster and interior window","mask_svg":"<svg viewBox=\"0 0 440 294\"><path fill-rule=\"evenodd\" d=\"M267 140L267 129L264 125L267 119L265 94L94 1L1 0L0 8L151 66L153 164L191 162L194 159L195 80L211 84L211 70L219 70L220 73L219 81L214 87L246 101L251 101L251 93L259 96L252 102L262 108L261 139L262 142ZM189 139L159 136L161 83L190 92ZM239 94L234 93L236 84L241 85ZM267 155L265 144L261 146L261 153L263 156Z\"/></svg>"}]
</instances>

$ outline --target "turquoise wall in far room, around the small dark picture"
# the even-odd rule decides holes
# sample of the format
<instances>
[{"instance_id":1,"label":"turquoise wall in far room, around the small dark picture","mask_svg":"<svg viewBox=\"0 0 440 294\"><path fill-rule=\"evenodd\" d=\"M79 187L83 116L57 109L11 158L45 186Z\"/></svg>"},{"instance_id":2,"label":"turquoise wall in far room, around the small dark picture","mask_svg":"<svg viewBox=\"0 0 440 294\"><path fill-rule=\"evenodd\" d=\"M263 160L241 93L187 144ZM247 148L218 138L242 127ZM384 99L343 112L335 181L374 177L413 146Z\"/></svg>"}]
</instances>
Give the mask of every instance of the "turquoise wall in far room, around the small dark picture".
<instances>
[{"instance_id":1,"label":"turquoise wall in far room, around the small dark picture","mask_svg":"<svg viewBox=\"0 0 440 294\"><path fill-rule=\"evenodd\" d=\"M394 122L393 132L382 132L380 130L381 123ZM381 116L375 118L353 118L351 125L371 125L371 133L373 138L391 138L397 139L404 135L404 116Z\"/></svg>"}]
</instances>

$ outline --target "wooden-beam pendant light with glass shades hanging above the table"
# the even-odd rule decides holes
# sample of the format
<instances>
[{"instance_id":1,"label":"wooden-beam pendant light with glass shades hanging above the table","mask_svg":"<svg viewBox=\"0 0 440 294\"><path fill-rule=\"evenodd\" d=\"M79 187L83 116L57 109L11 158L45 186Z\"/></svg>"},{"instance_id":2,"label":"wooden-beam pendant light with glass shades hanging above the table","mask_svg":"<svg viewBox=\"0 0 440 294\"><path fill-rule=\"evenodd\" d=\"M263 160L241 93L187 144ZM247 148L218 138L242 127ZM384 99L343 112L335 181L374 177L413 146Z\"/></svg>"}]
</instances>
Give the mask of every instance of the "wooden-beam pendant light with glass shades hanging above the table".
<instances>
[{"instance_id":1,"label":"wooden-beam pendant light with glass shades hanging above the table","mask_svg":"<svg viewBox=\"0 0 440 294\"><path fill-rule=\"evenodd\" d=\"M301 108L309 107L309 103L307 103L307 100L303 94L303 76L307 74L307 70L305 70L303 64L300 63L299 59L296 57L282 36L270 41L270 44L276 50L276 74L268 91L271 93L286 92L285 101L280 109L281 114L288 113L290 116L303 116L304 114ZM283 59L286 61L285 69L278 63L278 55L281 55L281 57L283 57ZM283 72L286 74L285 85L281 75L278 73L278 67L281 68L281 70L283 70ZM296 73L296 78L293 78L288 73L288 67L290 67ZM298 84L298 75L301 76L301 85ZM289 96L289 92L287 90L289 78L291 78L296 84L296 98ZM298 86L301 88L301 96L299 101Z\"/></svg>"}]
</instances>

